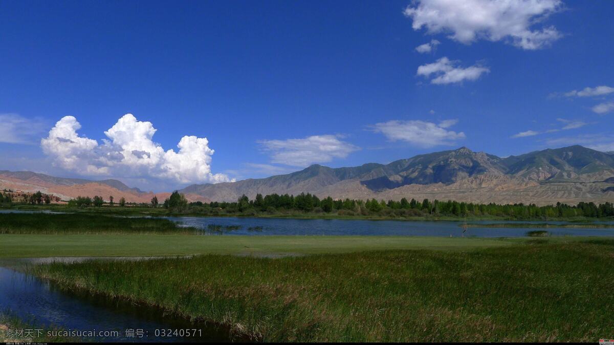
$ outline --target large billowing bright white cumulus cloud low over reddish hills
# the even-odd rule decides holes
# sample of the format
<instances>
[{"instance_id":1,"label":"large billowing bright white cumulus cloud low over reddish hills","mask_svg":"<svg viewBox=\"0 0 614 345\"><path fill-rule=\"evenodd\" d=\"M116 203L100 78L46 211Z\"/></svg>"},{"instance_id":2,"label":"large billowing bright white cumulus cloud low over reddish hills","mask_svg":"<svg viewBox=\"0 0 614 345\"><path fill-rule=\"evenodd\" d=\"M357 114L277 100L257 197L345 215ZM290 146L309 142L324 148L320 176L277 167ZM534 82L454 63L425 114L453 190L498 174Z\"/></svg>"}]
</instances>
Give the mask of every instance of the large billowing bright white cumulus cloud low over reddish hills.
<instances>
[{"instance_id":1,"label":"large billowing bright white cumulus cloud low over reddish hills","mask_svg":"<svg viewBox=\"0 0 614 345\"><path fill-rule=\"evenodd\" d=\"M43 152L55 165L84 175L153 177L183 184L230 182L223 174L212 174L207 138L184 136L177 147L164 150L152 141L157 131L150 122L141 122L132 114L121 117L104 134L101 144L79 136L77 119L65 116L41 139Z\"/></svg>"}]
</instances>

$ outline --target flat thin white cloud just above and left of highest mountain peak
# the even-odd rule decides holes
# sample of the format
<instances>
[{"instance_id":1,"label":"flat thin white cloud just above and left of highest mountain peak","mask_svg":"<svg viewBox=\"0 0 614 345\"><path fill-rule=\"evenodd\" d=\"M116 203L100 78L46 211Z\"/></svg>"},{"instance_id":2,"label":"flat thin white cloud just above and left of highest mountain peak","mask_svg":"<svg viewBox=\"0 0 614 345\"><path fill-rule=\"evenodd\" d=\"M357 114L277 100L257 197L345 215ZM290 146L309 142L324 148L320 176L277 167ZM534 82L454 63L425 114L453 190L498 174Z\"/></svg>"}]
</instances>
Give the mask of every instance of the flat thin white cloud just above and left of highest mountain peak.
<instances>
[{"instance_id":1,"label":"flat thin white cloud just above and left of highest mountain peak","mask_svg":"<svg viewBox=\"0 0 614 345\"><path fill-rule=\"evenodd\" d=\"M465 133L448 131L457 120L444 120L440 123L421 120L391 120L376 123L373 131L382 133L391 141L406 141L421 147L437 145L454 145L459 139L465 139Z\"/></svg>"}]
</instances>

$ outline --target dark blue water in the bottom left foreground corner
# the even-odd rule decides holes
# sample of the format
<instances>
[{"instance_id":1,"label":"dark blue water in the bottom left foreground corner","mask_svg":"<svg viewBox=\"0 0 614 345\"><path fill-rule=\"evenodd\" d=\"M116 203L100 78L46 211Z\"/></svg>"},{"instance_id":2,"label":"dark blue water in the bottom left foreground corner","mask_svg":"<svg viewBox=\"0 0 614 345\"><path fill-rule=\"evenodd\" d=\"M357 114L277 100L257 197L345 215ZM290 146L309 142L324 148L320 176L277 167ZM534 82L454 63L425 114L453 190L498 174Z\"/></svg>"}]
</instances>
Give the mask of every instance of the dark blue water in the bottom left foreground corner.
<instances>
[{"instance_id":1,"label":"dark blue water in the bottom left foreground corner","mask_svg":"<svg viewBox=\"0 0 614 345\"><path fill-rule=\"evenodd\" d=\"M25 259L28 260L28 259ZM74 262L83 258L72 258ZM61 330L79 330L104 333L104 336L85 338L95 342L211 342L229 341L230 332L211 324L192 323L181 317L165 315L163 311L139 306L123 300L93 296L88 293L66 291L49 282L20 271L9 269L23 265L18 259L0 261L0 311L21 320L32 320L32 329L46 333L53 325ZM1 267L5 266L5 267ZM174 330L197 329L195 336L175 336ZM128 333L126 333L126 330ZM130 336L131 331L142 337ZM169 330L173 332L169 332ZM185 331L184 331L185 332ZM171 333L171 336L157 336Z\"/></svg>"}]
</instances>

